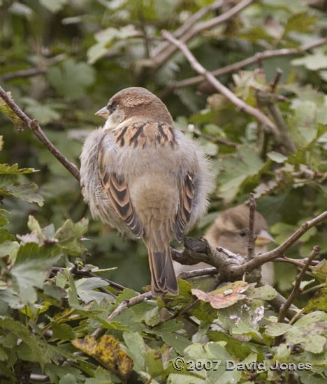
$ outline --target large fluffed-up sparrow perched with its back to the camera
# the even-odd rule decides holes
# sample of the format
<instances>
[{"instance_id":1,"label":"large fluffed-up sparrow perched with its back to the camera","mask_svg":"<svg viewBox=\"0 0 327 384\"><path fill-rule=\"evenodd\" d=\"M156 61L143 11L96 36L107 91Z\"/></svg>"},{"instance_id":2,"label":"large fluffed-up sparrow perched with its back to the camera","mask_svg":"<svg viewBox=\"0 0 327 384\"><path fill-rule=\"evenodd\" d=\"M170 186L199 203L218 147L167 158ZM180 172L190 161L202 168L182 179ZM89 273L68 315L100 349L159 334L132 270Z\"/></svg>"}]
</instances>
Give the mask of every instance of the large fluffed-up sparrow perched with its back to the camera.
<instances>
[{"instance_id":1,"label":"large fluffed-up sparrow perched with its back to the camera","mask_svg":"<svg viewBox=\"0 0 327 384\"><path fill-rule=\"evenodd\" d=\"M213 179L208 159L145 88L122 89L96 115L106 123L82 147L84 200L94 219L143 239L152 295L177 295L170 241L181 242L207 211Z\"/></svg>"}]
</instances>

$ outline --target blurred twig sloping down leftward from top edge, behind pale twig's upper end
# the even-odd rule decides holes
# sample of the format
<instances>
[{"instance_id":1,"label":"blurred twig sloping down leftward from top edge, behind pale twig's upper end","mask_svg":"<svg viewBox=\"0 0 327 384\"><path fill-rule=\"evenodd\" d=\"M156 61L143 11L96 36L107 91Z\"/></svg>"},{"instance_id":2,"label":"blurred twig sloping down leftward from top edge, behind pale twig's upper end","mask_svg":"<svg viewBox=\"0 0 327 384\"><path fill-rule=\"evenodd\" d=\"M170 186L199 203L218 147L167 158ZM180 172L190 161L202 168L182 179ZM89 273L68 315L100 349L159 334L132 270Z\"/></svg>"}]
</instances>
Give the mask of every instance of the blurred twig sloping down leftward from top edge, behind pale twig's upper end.
<instances>
[{"instance_id":1,"label":"blurred twig sloping down leftward from top edge, behind pale twig's upper end","mask_svg":"<svg viewBox=\"0 0 327 384\"><path fill-rule=\"evenodd\" d=\"M233 8L227 10L225 13L222 13L221 15L217 17L213 17L212 19L201 22L200 24L197 24L193 28L189 29L182 37L181 40L183 43L187 43L191 38L194 36L201 34L202 31L205 29L210 29L212 27L215 27L216 25L226 22L227 20L231 19L234 15L239 13L243 8L249 6L249 4L253 3L254 0L242 0L240 3L238 3ZM170 57L178 50L177 46L169 45L166 50L163 50L161 54L154 56L154 66L152 67L152 70L158 71L163 64L170 59Z\"/></svg>"}]
</instances>

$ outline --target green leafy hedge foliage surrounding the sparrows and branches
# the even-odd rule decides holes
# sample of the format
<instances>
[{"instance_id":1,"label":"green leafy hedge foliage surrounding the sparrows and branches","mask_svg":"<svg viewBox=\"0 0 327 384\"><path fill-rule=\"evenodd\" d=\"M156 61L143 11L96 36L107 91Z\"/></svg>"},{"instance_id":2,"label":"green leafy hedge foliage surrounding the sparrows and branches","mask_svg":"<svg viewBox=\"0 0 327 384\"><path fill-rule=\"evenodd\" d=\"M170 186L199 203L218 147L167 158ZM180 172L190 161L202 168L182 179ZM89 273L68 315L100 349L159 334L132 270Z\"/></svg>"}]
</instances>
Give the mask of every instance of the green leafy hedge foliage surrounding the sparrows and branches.
<instances>
[{"instance_id":1,"label":"green leafy hedge foliage surrounding the sparrows and branches","mask_svg":"<svg viewBox=\"0 0 327 384\"><path fill-rule=\"evenodd\" d=\"M208 91L203 84L167 93L166 87L173 82L197 75L180 52L159 71L152 71L148 53L161 42L161 29L175 31L210 3L0 0L0 84L77 164L85 135L102 124L94 112L112 94L124 87L143 86L164 96L176 128L198 138L212 157L217 175L210 212L191 235L203 235L218 211L247 200L254 191L275 245L281 244L327 205L327 45L265 59L261 69L255 63L219 77L242 100L258 106L258 92L268 92L276 68L282 68L276 94L284 97L276 104L297 147L293 154L283 154L282 146L259 129L251 116L235 110L224 96L208 98L201 93L205 88ZM222 10L228 9L226 4L224 7ZM206 19L216 12L208 13ZM254 1L227 22L198 34L189 47L213 71L258 52L311 43L326 36L326 28L326 1ZM29 68L42 68L43 73L8 77ZM6 106L0 105L0 110L6 113ZM262 110L266 112L264 107ZM205 361L218 356L222 361L309 362L312 371L299 371L295 380L326 382L326 266L312 273L312 286L320 284L314 298L312 290L297 299L299 307L307 306L307 314L293 326L276 324L272 311L265 312L266 323L255 320L262 300L272 293L269 288L261 292L253 286L244 299L250 308L247 315L242 313L242 301L218 310L198 302L186 316L192 316L192 323L195 319L192 331L184 329L183 316L161 322L159 308L166 305L177 313L194 300L192 286L186 281L180 283L180 296L138 304L106 323L108 313L119 302L149 283L145 246L122 240L115 230L92 221L78 182L31 131L18 133L2 114L0 124L1 383L23 383L29 374L46 374L45 382L59 384L124 382L122 369L115 371L94 353L90 354L98 362L73 355L76 345L71 340L100 326L108 328L120 341L119 348L133 359L129 383L202 384L218 379L219 383L246 383L251 379L240 371L221 369L177 372L172 367L177 355ZM221 145L221 139L237 146ZM89 225L85 218L90 219ZM326 224L312 228L287 256L305 258L319 244L323 258L326 239ZM56 273L52 270L50 274L53 265ZM117 269L109 272L97 269L114 267ZM286 263L275 267L275 286L288 295L296 268ZM101 272L130 289L116 299L117 290L99 277L82 276L83 268ZM238 325L229 318L231 313L241 317ZM284 335L282 343L274 346L280 335ZM71 364L62 365L65 360ZM252 381L270 383L277 376L287 380L287 374L270 371L259 373Z\"/></svg>"}]
</instances>

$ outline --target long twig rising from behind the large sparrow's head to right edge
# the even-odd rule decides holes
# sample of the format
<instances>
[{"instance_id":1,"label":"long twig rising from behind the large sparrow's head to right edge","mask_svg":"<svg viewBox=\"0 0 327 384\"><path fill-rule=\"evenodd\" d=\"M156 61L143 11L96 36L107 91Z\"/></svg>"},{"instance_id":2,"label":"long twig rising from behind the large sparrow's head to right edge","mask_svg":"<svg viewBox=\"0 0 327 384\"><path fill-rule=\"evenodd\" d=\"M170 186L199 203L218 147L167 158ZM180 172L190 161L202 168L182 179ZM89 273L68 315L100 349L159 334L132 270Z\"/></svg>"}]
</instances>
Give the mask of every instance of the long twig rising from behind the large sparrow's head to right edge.
<instances>
[{"instance_id":1,"label":"long twig rising from behind the large sparrow's head to right edge","mask_svg":"<svg viewBox=\"0 0 327 384\"><path fill-rule=\"evenodd\" d=\"M313 43L301 45L298 48L282 48L281 50L266 50L260 53L261 60L270 59L271 57L282 57L282 56L291 56L296 54L302 54L303 52L310 50L314 47L318 47L319 45L323 45L327 43L327 38L320 38L319 40L314 41ZM219 77L221 75L226 75L227 73L236 72L245 66L249 66L255 63L258 60L258 54L254 54L252 57L248 57L247 59L238 61L237 63L231 64L229 66L224 66L223 68L219 68L215 71L212 71L211 74L215 77ZM163 89L159 94L160 98L166 97L170 94L174 89L191 87L192 85L196 85L200 82L203 82L203 76L194 76L189 79L180 80L170 84L168 87Z\"/></svg>"}]
</instances>

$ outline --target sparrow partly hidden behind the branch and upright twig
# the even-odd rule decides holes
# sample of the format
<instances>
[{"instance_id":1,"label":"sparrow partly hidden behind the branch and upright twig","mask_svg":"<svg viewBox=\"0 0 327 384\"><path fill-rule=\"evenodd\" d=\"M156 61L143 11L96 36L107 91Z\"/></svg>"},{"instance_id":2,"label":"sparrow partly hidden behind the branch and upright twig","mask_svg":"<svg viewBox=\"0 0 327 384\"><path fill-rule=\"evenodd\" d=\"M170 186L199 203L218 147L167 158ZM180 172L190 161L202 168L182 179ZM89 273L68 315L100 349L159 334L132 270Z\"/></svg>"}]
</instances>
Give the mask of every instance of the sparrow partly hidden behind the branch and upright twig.
<instances>
[{"instance_id":1,"label":"sparrow partly hidden behind the branch and upright twig","mask_svg":"<svg viewBox=\"0 0 327 384\"><path fill-rule=\"evenodd\" d=\"M221 246L233 253L247 256L247 241L249 233L249 207L245 204L226 209L217 216L212 226L205 232L204 237L209 244L216 248ZM268 244L274 241L268 232L266 219L259 213L254 215L254 234L256 235L256 255L268 251ZM194 269L208 268L211 265L198 263L196 265L181 265L174 262L176 274ZM261 280L264 283L273 285L274 265L273 263L263 264L261 267Z\"/></svg>"}]
</instances>

